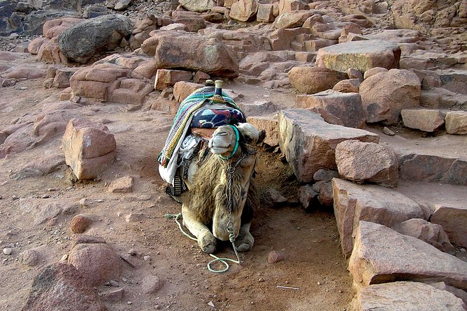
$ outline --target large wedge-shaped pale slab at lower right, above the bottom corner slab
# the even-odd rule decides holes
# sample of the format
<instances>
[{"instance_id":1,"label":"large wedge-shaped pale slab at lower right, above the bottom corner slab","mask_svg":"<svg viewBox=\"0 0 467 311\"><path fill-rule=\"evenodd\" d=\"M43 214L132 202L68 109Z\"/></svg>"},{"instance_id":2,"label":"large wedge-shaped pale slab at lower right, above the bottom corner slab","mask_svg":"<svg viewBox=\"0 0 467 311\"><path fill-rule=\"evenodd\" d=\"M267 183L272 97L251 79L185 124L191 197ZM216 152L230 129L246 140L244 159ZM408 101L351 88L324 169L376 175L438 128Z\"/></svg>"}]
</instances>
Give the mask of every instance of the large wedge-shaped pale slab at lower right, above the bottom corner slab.
<instances>
[{"instance_id":1,"label":"large wedge-shaped pale slab at lower right, above the bottom corner slab","mask_svg":"<svg viewBox=\"0 0 467 311\"><path fill-rule=\"evenodd\" d=\"M359 289L397 280L426 279L467 289L467 262L373 222L359 222L349 271Z\"/></svg>"}]
</instances>

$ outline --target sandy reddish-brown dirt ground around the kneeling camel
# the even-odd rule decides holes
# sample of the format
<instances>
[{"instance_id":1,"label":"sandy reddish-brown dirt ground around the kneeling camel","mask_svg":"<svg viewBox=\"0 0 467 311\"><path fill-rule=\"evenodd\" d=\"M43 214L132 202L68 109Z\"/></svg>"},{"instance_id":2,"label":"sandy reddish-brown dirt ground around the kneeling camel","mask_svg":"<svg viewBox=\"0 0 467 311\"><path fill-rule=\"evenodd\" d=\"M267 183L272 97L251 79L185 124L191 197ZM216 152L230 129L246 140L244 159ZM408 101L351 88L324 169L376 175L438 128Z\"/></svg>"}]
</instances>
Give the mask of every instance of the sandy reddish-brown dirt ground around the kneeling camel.
<instances>
[{"instance_id":1,"label":"sandy reddish-brown dirt ground around the kneeling camel","mask_svg":"<svg viewBox=\"0 0 467 311\"><path fill-rule=\"evenodd\" d=\"M0 89L0 126L17 118L36 116L43 107L57 103L59 91L44 89L42 79L18 82ZM268 97L280 107L293 107L292 91L271 91L261 86L227 84L245 100ZM280 154L259 151L259 190L274 188L289 199L282 206L261 206L252 223L255 245L240 254L242 263L232 264L227 273L210 273L211 257L194 241L183 236L166 213L180 212L180 205L164 195L164 182L157 172L157 155L164 145L172 116L155 110L128 112L124 105L103 103L80 107L90 120L106 119L115 134L115 163L96 181L72 183L69 168L60 165L41 177L15 180L22 167L62 154L61 135L51 142L0 160L0 248L14 245L13 254L0 254L0 309L20 310L38 270L59 261L71 248L69 224L73 215L89 215L94 221L85 234L101 236L119 254L131 257L120 279L121 301L106 301L108 310L346 310L352 300L351 278L340 252L336 220L331 209L319 206L304 211L297 202L296 182ZM108 192L107 185L122 176L133 176L131 193ZM87 200L73 215L34 225L33 215L18 207L20 198ZM126 215L140 220L127 222ZM20 263L24 250L38 248L41 261L28 267ZM279 250L285 259L268 263L268 253ZM218 255L234 258L226 245ZM150 260L144 257L149 256ZM146 257L148 259L148 257ZM217 266L222 268L222 266ZM141 280L157 275L164 287L145 295ZM280 288L293 287L292 288ZM101 286L100 294L117 288Z\"/></svg>"}]
</instances>

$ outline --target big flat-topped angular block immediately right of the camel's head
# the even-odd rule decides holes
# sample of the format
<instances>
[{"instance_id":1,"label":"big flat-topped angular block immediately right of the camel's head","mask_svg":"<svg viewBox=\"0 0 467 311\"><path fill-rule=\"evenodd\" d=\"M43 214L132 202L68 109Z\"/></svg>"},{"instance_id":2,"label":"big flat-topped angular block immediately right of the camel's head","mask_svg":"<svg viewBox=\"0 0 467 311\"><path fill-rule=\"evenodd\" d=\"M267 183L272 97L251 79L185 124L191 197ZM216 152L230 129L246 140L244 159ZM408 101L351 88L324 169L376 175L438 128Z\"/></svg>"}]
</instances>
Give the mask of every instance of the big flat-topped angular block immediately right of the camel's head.
<instances>
[{"instance_id":1,"label":"big flat-topped angular block immediately right of the camel's head","mask_svg":"<svg viewBox=\"0 0 467 311\"><path fill-rule=\"evenodd\" d=\"M357 128L326 123L307 109L285 109L279 113L279 145L301 183L313 180L318 169L337 169L334 150L348 139L375 142L380 137Z\"/></svg>"}]
</instances>

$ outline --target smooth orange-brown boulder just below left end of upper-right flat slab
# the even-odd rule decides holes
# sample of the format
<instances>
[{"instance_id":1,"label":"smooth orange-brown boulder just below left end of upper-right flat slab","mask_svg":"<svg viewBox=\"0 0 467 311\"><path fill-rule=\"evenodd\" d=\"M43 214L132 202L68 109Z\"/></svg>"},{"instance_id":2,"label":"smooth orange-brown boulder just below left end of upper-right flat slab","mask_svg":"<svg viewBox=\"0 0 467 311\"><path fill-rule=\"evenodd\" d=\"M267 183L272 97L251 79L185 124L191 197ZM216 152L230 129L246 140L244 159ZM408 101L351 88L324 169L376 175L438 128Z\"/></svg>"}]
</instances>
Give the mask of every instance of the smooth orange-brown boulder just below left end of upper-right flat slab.
<instances>
[{"instance_id":1,"label":"smooth orange-brown boulder just below left end of upper-right flat slab","mask_svg":"<svg viewBox=\"0 0 467 311\"><path fill-rule=\"evenodd\" d=\"M300 93L306 94L332 89L340 80L347 79L345 73L310 66L296 66L289 71L288 75L290 84Z\"/></svg>"}]
</instances>

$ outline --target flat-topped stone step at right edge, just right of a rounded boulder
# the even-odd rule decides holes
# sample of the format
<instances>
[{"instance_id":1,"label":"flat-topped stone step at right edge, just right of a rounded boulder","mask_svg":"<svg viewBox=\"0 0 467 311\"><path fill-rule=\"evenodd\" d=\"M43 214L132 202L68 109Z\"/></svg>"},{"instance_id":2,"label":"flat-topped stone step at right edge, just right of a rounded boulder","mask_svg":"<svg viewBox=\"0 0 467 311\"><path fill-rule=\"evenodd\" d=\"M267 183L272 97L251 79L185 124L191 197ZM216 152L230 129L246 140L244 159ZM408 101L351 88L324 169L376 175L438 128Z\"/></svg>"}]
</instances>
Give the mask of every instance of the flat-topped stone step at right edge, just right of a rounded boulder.
<instances>
[{"instance_id":1,"label":"flat-topped stone step at right edge, just right of a rounded boulder","mask_svg":"<svg viewBox=\"0 0 467 311\"><path fill-rule=\"evenodd\" d=\"M400 179L467 185L466 136L388 136L372 131L380 134L380 144L388 144L396 152Z\"/></svg>"}]
</instances>

